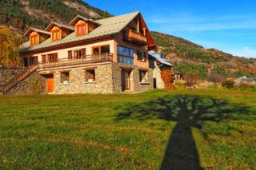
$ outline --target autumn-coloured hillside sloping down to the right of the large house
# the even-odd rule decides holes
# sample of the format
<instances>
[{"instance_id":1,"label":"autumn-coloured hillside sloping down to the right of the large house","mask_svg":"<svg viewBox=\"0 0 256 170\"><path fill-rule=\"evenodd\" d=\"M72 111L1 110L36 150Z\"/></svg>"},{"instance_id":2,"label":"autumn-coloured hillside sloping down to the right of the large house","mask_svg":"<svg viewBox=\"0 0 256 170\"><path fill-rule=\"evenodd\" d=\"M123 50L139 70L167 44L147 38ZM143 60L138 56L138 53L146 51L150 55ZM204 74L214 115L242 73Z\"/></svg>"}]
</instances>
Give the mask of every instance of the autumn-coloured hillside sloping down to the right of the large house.
<instances>
[{"instance_id":1,"label":"autumn-coloured hillside sloping down to the right of the large house","mask_svg":"<svg viewBox=\"0 0 256 170\"><path fill-rule=\"evenodd\" d=\"M218 49L205 49L183 38L151 32L158 50L174 63L182 73L198 71L201 78L207 73L219 73L224 77L255 77L256 59L235 57Z\"/></svg>"}]
</instances>

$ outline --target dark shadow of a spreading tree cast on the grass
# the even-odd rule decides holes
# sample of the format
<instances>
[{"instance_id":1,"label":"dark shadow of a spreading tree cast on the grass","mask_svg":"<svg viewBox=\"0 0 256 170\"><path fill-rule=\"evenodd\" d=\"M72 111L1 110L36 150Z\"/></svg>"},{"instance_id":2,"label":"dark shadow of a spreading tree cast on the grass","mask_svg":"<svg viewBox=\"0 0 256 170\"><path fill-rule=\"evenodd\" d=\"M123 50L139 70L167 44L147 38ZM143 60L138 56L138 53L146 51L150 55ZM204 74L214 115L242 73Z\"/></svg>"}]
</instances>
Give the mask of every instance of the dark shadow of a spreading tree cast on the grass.
<instances>
[{"instance_id":1,"label":"dark shadow of a spreading tree cast on the grass","mask_svg":"<svg viewBox=\"0 0 256 170\"><path fill-rule=\"evenodd\" d=\"M160 169L202 169L191 128L201 129L205 121L234 120L247 114L255 114L255 111L246 105L214 97L177 95L130 105L118 114L117 120L176 121Z\"/></svg>"}]
</instances>

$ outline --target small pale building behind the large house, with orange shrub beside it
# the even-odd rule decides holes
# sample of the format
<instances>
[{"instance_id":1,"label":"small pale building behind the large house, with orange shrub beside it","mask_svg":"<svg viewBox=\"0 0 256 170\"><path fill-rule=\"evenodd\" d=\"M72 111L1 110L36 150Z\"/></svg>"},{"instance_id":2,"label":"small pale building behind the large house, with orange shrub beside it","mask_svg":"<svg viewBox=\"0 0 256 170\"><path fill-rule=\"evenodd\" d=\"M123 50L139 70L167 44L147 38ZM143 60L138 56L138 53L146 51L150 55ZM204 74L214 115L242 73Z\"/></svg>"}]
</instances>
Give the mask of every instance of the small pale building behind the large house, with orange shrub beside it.
<instances>
[{"instance_id":1,"label":"small pale building behind the large house, with orange shrub beside it","mask_svg":"<svg viewBox=\"0 0 256 170\"><path fill-rule=\"evenodd\" d=\"M150 68L153 69L153 79L155 89L174 89L174 74L172 68L174 65L166 60L165 56L149 51Z\"/></svg>"}]
</instances>

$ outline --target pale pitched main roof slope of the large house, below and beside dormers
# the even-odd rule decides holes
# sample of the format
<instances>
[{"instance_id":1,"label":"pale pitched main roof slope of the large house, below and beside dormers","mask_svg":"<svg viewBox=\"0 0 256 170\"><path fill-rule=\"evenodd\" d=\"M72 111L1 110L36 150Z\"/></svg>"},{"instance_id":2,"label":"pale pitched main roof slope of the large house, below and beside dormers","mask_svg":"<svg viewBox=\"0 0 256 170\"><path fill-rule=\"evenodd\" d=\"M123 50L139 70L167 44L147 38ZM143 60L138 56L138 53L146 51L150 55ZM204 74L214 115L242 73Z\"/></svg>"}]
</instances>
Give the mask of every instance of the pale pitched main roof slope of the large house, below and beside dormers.
<instances>
[{"instance_id":1,"label":"pale pitched main roof slope of the large house, below and beside dormers","mask_svg":"<svg viewBox=\"0 0 256 170\"><path fill-rule=\"evenodd\" d=\"M31 51L34 49L46 48L54 45L62 45L68 42L77 42L81 40L86 40L90 38L98 38L106 35L118 34L122 31L136 16L138 16L140 12L134 12L130 14L123 14L116 17L105 18L97 20L100 24L97 28L91 31L89 34L77 36L75 32L67 35L65 38L62 38L59 41L52 42L50 38L46 39L46 41L38 44L30 46L29 43L23 44L23 50Z\"/></svg>"}]
</instances>

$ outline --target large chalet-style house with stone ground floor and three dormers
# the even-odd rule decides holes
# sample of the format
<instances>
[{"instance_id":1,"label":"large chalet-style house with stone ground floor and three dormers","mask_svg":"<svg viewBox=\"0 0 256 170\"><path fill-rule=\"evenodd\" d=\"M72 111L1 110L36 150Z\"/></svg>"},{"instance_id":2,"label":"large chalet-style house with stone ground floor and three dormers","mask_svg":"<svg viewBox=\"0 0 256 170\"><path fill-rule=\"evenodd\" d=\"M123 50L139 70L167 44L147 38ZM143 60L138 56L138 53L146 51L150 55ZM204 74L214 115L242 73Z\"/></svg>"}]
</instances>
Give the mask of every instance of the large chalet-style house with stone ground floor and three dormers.
<instances>
[{"instance_id":1,"label":"large chalet-style house with stone ground floor and three dormers","mask_svg":"<svg viewBox=\"0 0 256 170\"><path fill-rule=\"evenodd\" d=\"M22 45L26 69L6 85L5 93L30 93L31 76L40 79L42 93L153 89L148 51L155 45L140 12L100 20L78 15L69 26L51 22L45 30L31 27L25 35L29 38Z\"/></svg>"}]
</instances>

